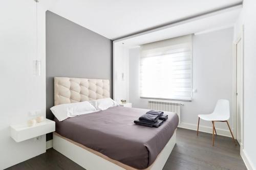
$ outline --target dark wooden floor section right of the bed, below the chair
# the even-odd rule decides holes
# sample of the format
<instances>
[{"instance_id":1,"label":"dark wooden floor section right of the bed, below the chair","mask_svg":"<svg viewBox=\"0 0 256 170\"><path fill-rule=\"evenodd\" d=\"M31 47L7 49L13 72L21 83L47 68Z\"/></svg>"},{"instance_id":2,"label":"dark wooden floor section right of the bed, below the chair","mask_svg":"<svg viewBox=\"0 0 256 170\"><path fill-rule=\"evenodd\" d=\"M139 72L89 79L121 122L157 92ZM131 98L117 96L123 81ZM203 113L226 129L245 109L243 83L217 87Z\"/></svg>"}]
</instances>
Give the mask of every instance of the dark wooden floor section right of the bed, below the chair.
<instances>
[{"instance_id":1,"label":"dark wooden floor section right of the bed, below the chair","mask_svg":"<svg viewBox=\"0 0 256 170\"><path fill-rule=\"evenodd\" d=\"M163 169L247 169L239 145L234 145L229 137L217 135L215 147L212 147L211 137L208 133L201 132L197 136L196 131L178 129L177 143Z\"/></svg>"}]
</instances>

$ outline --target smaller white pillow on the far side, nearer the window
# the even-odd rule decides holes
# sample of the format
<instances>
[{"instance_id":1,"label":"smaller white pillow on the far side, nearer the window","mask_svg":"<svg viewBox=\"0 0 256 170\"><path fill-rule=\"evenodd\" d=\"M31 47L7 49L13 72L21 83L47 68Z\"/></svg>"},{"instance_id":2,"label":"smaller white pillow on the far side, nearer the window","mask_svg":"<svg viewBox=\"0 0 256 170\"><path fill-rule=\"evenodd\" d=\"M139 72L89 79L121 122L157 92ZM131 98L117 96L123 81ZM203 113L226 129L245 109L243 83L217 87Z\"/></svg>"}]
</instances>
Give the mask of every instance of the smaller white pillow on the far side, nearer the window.
<instances>
[{"instance_id":1,"label":"smaller white pillow on the far side, nearer the window","mask_svg":"<svg viewBox=\"0 0 256 170\"><path fill-rule=\"evenodd\" d=\"M106 110L113 106L118 106L118 104L111 98L104 98L98 100L89 101L97 110Z\"/></svg>"}]
</instances>

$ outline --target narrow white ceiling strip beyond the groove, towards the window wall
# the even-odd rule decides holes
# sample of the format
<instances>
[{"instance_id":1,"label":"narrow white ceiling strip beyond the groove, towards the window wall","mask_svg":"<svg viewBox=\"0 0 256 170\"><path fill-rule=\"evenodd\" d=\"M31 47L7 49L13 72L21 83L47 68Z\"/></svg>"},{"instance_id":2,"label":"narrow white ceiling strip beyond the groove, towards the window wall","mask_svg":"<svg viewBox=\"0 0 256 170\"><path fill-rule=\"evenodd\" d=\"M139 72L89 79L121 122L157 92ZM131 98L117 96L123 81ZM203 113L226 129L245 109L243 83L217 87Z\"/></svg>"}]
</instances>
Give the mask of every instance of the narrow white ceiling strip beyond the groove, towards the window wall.
<instances>
[{"instance_id":1,"label":"narrow white ceiling strip beyond the groove, towards the window wall","mask_svg":"<svg viewBox=\"0 0 256 170\"><path fill-rule=\"evenodd\" d=\"M160 41L168 38L179 37L188 34L203 34L205 32L227 29L234 26L241 12L242 6L236 6L215 13L196 17L186 21L175 23L156 30L151 30L139 35L114 41L115 45L127 48L141 44Z\"/></svg>"}]
</instances>

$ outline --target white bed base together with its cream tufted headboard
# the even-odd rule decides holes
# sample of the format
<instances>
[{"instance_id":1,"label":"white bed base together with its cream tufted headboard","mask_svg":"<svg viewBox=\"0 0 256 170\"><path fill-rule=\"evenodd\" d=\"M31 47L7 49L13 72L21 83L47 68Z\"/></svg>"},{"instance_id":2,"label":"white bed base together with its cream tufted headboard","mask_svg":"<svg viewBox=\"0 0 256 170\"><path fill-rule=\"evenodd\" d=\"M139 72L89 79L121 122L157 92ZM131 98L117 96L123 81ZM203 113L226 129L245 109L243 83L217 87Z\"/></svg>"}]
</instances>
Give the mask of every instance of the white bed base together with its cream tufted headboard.
<instances>
[{"instance_id":1,"label":"white bed base together with its cream tufted headboard","mask_svg":"<svg viewBox=\"0 0 256 170\"><path fill-rule=\"evenodd\" d=\"M88 95L88 99L84 98L84 95L82 92L82 88L84 90L84 86L86 84L90 84L88 86L89 91L91 91L91 94ZM96 85L96 89L93 90L90 89L92 84ZM79 87L82 86L82 87ZM99 89L100 88L100 89ZM79 90L80 89L80 90ZM78 78L54 78L54 102L55 105L58 104L64 104L64 103L71 103L71 102L81 102L86 100L92 100L93 98L89 98L89 96L99 96L98 98L95 97L95 99L100 98L107 98L109 97L109 81L108 80L99 80L99 79L78 79ZM95 91L94 91L95 90ZM105 91L104 91L105 90ZM87 91L87 90L85 90ZM96 93L99 91L102 91L102 93L98 94ZM72 99L72 92L77 94L83 95L83 98L80 98L76 95L76 99ZM96 95L94 95L94 93ZM93 94L93 95L92 95ZM74 95L73 95L74 96ZM83 100L82 100L83 99ZM155 162L146 168L146 170L160 170L164 167L170 153L173 151L173 148L176 144L176 131L174 132L172 138L169 139L167 144L165 145L164 149L161 151L161 153L158 155ZM100 155L100 153L97 153L96 151L90 152L90 149L87 149L86 147L82 146L79 143L76 143L70 139L67 139L65 137L60 136L57 133L53 134L53 149L61 153L62 155L65 155L72 161L76 162L83 168L86 168L87 170L123 170L123 169L129 169L129 170L135 170L136 168L133 168L131 166L125 165L121 162L118 162L116 160L113 160L107 156L104 156L103 154Z\"/></svg>"}]
</instances>

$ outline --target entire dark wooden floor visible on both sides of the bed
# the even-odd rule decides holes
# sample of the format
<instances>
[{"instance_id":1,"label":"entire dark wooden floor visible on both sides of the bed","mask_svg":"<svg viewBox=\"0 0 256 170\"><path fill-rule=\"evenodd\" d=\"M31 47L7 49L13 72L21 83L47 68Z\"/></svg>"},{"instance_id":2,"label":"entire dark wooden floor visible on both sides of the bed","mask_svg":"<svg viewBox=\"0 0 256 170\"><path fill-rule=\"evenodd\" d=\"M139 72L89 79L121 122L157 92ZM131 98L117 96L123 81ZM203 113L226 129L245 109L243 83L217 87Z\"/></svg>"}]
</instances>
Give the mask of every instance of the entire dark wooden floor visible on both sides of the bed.
<instances>
[{"instance_id":1,"label":"entire dark wooden floor visible on both sides of the bed","mask_svg":"<svg viewBox=\"0 0 256 170\"><path fill-rule=\"evenodd\" d=\"M235 146L232 139L229 137L217 136L215 147L212 147L211 134L200 133L197 137L196 131L178 129L177 144L163 169L243 170L246 169L246 167L239 152L239 145ZM41 154L7 169L75 170L83 168L57 151L49 149L45 154Z\"/></svg>"}]
</instances>

